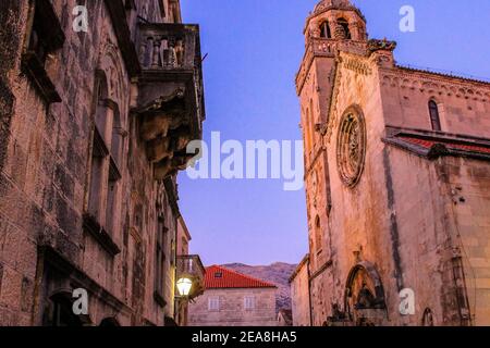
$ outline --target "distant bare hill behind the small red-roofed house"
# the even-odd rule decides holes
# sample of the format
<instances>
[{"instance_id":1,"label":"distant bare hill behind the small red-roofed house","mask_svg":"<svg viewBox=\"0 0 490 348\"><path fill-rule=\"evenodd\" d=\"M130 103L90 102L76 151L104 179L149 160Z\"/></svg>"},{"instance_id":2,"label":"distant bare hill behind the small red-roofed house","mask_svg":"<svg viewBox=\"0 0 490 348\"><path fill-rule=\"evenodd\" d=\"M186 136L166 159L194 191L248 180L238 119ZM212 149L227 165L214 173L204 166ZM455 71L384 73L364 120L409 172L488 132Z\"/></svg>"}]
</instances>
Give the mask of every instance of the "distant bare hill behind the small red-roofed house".
<instances>
[{"instance_id":1,"label":"distant bare hill behind the small red-roofed house","mask_svg":"<svg viewBox=\"0 0 490 348\"><path fill-rule=\"evenodd\" d=\"M296 269L296 264L275 262L270 265L247 265L243 263L223 264L224 268L246 274L265 282L273 283L278 286L278 297L275 299L277 311L291 309L291 290L289 279Z\"/></svg>"}]
</instances>

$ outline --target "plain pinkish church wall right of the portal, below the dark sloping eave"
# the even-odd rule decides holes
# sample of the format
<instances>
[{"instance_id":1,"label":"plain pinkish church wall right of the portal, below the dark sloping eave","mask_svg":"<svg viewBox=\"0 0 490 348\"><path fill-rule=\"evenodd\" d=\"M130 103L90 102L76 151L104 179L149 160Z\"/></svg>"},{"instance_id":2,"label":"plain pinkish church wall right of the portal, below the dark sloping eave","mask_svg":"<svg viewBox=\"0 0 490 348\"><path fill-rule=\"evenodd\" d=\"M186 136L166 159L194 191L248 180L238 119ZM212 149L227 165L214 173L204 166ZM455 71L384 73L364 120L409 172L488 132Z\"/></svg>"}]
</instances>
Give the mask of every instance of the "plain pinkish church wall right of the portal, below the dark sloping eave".
<instances>
[{"instance_id":1,"label":"plain pinkish church wall right of the portal, below the dark sloping eave","mask_svg":"<svg viewBox=\"0 0 490 348\"><path fill-rule=\"evenodd\" d=\"M404 318L403 322L420 325L428 308L436 325L457 325L451 265L452 228L448 222L451 215L446 211L452 202L441 182L441 163L397 149L387 149L387 153L396 211L401 281L404 287L415 291L415 315Z\"/></svg>"}]
</instances>

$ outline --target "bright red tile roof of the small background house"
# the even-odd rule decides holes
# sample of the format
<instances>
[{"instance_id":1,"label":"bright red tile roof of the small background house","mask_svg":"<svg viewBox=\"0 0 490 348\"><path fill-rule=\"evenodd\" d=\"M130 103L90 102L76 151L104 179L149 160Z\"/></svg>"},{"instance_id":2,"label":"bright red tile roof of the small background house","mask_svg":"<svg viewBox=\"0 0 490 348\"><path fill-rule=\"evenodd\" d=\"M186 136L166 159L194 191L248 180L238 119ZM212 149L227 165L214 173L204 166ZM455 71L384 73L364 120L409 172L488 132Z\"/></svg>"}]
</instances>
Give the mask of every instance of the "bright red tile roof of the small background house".
<instances>
[{"instance_id":1,"label":"bright red tile roof of the small background house","mask_svg":"<svg viewBox=\"0 0 490 348\"><path fill-rule=\"evenodd\" d=\"M206 268L205 286L207 289L277 287L272 283L267 283L220 265Z\"/></svg>"}]
</instances>

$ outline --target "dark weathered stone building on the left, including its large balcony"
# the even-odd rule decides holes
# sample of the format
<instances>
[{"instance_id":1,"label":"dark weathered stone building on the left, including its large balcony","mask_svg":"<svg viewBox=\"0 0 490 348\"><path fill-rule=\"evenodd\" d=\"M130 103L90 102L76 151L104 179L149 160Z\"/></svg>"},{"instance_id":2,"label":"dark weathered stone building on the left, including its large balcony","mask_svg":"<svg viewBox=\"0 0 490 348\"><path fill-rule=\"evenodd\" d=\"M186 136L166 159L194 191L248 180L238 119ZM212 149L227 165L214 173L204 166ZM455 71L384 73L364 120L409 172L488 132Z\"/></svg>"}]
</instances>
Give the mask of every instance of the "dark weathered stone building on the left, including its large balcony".
<instances>
[{"instance_id":1,"label":"dark weathered stone building on the left, including its large balcony","mask_svg":"<svg viewBox=\"0 0 490 348\"><path fill-rule=\"evenodd\" d=\"M198 26L179 0L2 0L0 24L0 325L172 323Z\"/></svg>"}]
</instances>

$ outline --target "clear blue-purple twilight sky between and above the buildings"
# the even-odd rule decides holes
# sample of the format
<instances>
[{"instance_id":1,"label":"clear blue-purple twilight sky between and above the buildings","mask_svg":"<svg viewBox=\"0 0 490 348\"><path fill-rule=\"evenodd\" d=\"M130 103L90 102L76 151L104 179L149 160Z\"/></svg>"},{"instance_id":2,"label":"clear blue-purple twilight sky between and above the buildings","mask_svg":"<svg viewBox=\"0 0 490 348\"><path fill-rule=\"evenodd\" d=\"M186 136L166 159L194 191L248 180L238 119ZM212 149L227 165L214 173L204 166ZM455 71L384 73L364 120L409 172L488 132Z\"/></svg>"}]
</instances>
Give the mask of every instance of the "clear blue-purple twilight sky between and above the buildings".
<instances>
[{"instance_id":1,"label":"clear blue-purple twilight sky between and above the buildings","mask_svg":"<svg viewBox=\"0 0 490 348\"><path fill-rule=\"evenodd\" d=\"M294 76L303 27L317 0L182 0L184 22L198 23L205 60L206 141L301 139ZM490 77L490 1L357 0L370 38L399 42L401 64ZM416 32L399 29L402 5ZM197 179L180 174L181 210L191 252L206 265L297 263L307 252L305 194L279 179Z\"/></svg>"}]
</instances>

